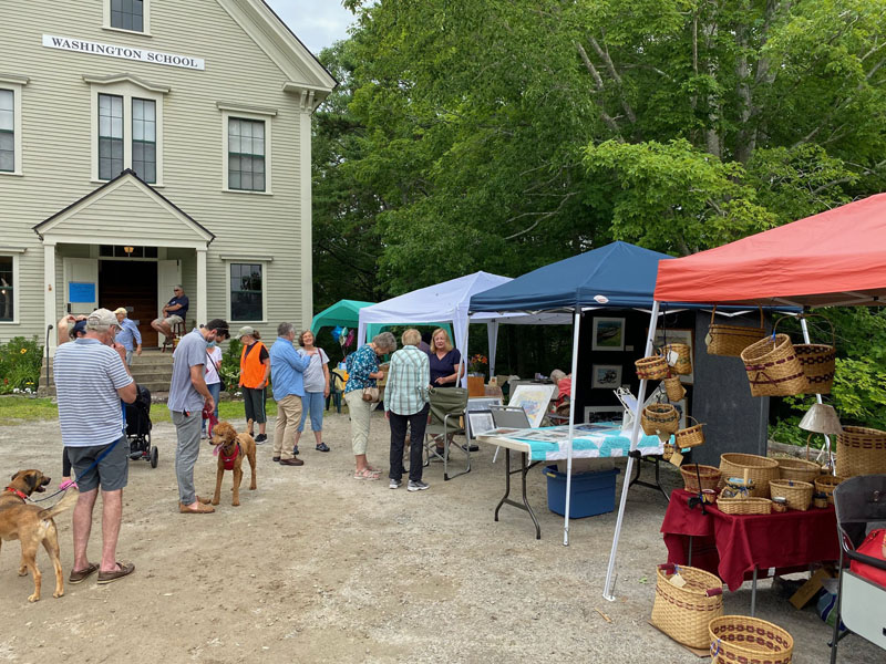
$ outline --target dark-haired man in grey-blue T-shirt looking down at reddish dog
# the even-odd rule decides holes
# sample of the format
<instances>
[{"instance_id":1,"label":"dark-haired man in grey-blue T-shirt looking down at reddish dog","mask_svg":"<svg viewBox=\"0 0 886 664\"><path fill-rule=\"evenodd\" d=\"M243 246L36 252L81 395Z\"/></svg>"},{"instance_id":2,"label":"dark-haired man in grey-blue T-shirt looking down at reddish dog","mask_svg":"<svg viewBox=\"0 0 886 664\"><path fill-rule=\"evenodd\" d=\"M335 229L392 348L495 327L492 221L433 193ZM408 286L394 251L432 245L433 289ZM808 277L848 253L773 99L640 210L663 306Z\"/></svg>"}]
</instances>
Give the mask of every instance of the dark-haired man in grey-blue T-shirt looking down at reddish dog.
<instances>
[{"instance_id":1,"label":"dark-haired man in grey-blue T-shirt looking down at reddish dog","mask_svg":"<svg viewBox=\"0 0 886 664\"><path fill-rule=\"evenodd\" d=\"M178 480L178 511L183 515L208 515L215 511L209 498L194 489L194 465L200 453L203 408L215 409L215 400L206 386L206 347L212 341L230 338L227 321L213 319L194 328L178 342L173 353L173 377L167 406L172 413L178 444L175 449L175 477Z\"/></svg>"}]
</instances>

